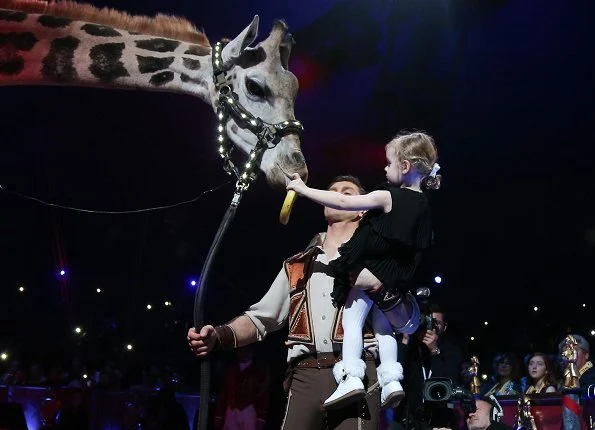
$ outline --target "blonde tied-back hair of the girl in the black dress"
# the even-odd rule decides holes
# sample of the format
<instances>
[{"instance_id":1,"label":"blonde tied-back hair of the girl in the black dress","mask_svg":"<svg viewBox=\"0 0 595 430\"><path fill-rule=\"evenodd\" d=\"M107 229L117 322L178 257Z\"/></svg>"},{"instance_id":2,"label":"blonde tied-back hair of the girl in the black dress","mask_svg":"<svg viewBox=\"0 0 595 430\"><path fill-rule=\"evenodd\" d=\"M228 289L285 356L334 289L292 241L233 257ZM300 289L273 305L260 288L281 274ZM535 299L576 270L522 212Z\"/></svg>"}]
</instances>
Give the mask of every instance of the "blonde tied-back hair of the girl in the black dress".
<instances>
[{"instance_id":1,"label":"blonde tied-back hair of the girl in the black dress","mask_svg":"<svg viewBox=\"0 0 595 430\"><path fill-rule=\"evenodd\" d=\"M438 150L432 136L421 131L401 132L386 145L386 149L393 151L397 160L409 161L419 173L424 175L422 188L427 190L440 188L442 176L430 176L438 159Z\"/></svg>"}]
</instances>

